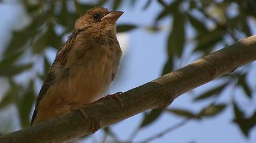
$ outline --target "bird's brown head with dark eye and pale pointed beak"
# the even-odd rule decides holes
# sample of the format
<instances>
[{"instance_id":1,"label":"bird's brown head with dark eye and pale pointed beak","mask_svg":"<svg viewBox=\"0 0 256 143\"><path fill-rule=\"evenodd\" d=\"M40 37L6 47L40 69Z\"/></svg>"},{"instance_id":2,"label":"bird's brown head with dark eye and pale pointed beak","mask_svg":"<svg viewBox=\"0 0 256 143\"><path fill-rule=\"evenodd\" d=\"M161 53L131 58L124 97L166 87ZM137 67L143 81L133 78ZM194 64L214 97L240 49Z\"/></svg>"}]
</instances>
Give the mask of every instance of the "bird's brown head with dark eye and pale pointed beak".
<instances>
[{"instance_id":1,"label":"bird's brown head with dark eye and pale pointed beak","mask_svg":"<svg viewBox=\"0 0 256 143\"><path fill-rule=\"evenodd\" d=\"M91 26L93 28L100 28L105 32L114 32L116 30L116 21L123 15L124 12L109 12L107 8L95 7L80 16L77 19L75 28L83 28Z\"/></svg>"}]
</instances>

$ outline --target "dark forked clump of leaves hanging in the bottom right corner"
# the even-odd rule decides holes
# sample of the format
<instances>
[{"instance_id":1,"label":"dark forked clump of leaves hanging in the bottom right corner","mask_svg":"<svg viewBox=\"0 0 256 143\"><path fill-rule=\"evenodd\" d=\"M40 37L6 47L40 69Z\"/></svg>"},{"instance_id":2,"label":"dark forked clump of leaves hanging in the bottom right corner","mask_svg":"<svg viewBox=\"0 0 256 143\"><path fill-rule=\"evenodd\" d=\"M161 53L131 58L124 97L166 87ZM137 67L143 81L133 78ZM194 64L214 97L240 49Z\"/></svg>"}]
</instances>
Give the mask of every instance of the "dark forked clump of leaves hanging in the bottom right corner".
<instances>
[{"instance_id":1,"label":"dark forked clump of leaves hanging in the bottom right corner","mask_svg":"<svg viewBox=\"0 0 256 143\"><path fill-rule=\"evenodd\" d=\"M235 118L233 119L233 122L235 122L243 131L244 135L248 137L249 131L256 124L256 111L251 117L244 118L243 111L241 111L235 103L233 104L233 110L235 112Z\"/></svg>"}]
</instances>

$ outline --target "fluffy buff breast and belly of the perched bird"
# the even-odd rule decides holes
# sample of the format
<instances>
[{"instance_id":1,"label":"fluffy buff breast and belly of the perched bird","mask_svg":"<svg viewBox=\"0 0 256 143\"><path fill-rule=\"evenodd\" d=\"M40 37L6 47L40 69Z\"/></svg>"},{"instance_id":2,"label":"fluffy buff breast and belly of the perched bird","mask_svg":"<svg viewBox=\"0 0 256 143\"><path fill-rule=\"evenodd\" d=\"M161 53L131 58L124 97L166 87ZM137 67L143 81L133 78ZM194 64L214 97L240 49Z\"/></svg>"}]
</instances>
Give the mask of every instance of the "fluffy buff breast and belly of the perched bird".
<instances>
[{"instance_id":1,"label":"fluffy buff breast and belly of the perched bird","mask_svg":"<svg viewBox=\"0 0 256 143\"><path fill-rule=\"evenodd\" d=\"M60 79L58 84L62 102L88 104L103 96L118 70L121 55L115 48L119 45L73 50L69 57L73 61L68 61L66 67L68 74L65 73L66 78Z\"/></svg>"}]
</instances>

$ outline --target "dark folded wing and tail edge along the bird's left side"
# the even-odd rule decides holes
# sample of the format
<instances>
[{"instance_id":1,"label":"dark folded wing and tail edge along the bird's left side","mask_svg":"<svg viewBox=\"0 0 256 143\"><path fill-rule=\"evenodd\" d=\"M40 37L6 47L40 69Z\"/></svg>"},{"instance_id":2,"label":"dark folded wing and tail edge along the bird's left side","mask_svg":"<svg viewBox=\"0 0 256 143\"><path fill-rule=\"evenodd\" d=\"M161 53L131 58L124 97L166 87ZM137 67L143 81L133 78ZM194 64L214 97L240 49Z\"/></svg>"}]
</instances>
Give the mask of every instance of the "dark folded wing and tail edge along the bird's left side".
<instances>
[{"instance_id":1,"label":"dark folded wing and tail edge along the bird's left side","mask_svg":"<svg viewBox=\"0 0 256 143\"><path fill-rule=\"evenodd\" d=\"M71 36L69 36L68 41L66 41L62 47L59 48L57 55L55 57L54 62L51 65L51 68L54 65L62 65L65 66L66 64L66 59L68 56L68 53L70 52L71 48L74 45L74 39L76 39L77 35L79 35L80 32L84 31L86 28L81 28L81 29L77 29L74 30L74 32L72 33ZM46 76L46 79L41 87L41 90L39 92L39 95L37 97L37 101L35 102L35 110L34 113L32 115L32 119L31 119L31 124L33 124L35 117L37 116L37 107L40 103L40 101L44 98L44 96L46 96L46 93L49 89L49 87L51 87L52 85L52 81L54 81L54 75L52 72L48 72L48 75Z\"/></svg>"}]
</instances>

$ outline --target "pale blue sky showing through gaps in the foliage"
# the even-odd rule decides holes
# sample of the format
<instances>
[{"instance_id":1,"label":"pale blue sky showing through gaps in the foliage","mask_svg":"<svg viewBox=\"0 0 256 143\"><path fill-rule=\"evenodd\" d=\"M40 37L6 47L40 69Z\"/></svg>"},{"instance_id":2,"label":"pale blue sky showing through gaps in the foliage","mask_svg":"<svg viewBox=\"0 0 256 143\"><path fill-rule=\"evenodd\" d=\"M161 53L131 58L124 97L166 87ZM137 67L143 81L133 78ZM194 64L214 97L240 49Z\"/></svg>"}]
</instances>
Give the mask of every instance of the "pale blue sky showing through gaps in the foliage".
<instances>
[{"instance_id":1,"label":"pale blue sky showing through gaps in the foliage","mask_svg":"<svg viewBox=\"0 0 256 143\"><path fill-rule=\"evenodd\" d=\"M142 10L142 7L146 1L138 1L134 8L131 8L129 4L122 5L119 10L124 12L124 15L118 20L118 23L130 23L137 24L140 28L133 30L132 32L118 35L121 47L124 48L124 55L122 59L121 71L118 75L118 79L113 83L109 93L115 93L117 91L127 91L131 88L137 87L138 85L152 81L158 78L165 64L166 55L166 39L168 35L168 25L171 19L163 19L160 23L162 30L160 32L149 32L144 27L153 24L154 18L158 12L162 9L157 2L152 2L150 7L146 10ZM105 5L109 8L109 5ZM26 20L24 20L26 19ZM0 56L5 45L11 36L12 30L18 29L21 25L26 25L26 16L24 16L24 10L21 5L15 1L5 2L0 4ZM252 24L255 21L252 21ZM167 30L166 30L167 29ZM193 35L193 30L188 27L186 32L188 35ZM255 28L253 33L255 34ZM177 35L179 36L179 35ZM190 45L187 45L190 47ZM223 45L219 45L216 49L222 48ZM183 65L189 64L200 58L200 55L191 55L191 48L186 48L185 54L183 55L186 60L177 61L176 68L180 68ZM55 58L55 50L48 51L49 60L53 61ZM256 63L254 62L254 68L250 73L249 82L252 85L256 85ZM22 80L22 78L21 78ZM0 95L7 88L4 84L4 79L0 78ZM193 95L202 93L208 88L214 87L222 81L214 81L210 84L205 84L193 92L186 93L177 98L170 106L185 108L191 111L199 111L202 107L205 107L210 102L197 102L194 103ZM39 83L40 84L40 83ZM37 91L39 92L41 85L38 85ZM255 87L254 87L255 91ZM254 92L255 93L255 92ZM236 99L240 101L241 107L246 110L247 116L253 113L256 108L256 96L249 100L241 97L244 95L243 90L232 91L232 87L228 87L225 90L218 102L230 102L230 96L236 96ZM235 95L232 95L235 94ZM1 96L0 96L1 97ZM1 98L0 98L1 99ZM10 116L16 116L16 108L8 107L5 111L1 111L0 121L9 119ZM16 118L18 118L16 116ZM236 124L232 123L232 107L227 107L221 114L216 115L215 118L204 118L201 121L189 121L182 127L177 128L174 131L166 133L160 138L157 138L151 142L256 142L256 128L254 127L249 134L249 138L246 138L241 133L240 128ZM127 141L131 133L140 125L143 119L143 113L133 116L132 118L126 119L125 121L119 122L112 125L113 131L118 135L121 141ZM143 139L149 136L155 135L156 133L165 130L165 128L176 125L183 118L180 118L171 114L163 114L153 125L149 125L140 132L138 132L135 141L143 141ZM20 125L18 119L13 118L11 126L12 130L18 130ZM1 124L1 123L0 123ZM8 126L8 125L6 125ZM4 130L4 129L1 129ZM102 131L94 133L93 137L86 139L85 141L79 142L101 142Z\"/></svg>"}]
</instances>

